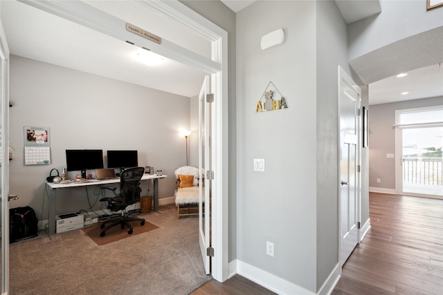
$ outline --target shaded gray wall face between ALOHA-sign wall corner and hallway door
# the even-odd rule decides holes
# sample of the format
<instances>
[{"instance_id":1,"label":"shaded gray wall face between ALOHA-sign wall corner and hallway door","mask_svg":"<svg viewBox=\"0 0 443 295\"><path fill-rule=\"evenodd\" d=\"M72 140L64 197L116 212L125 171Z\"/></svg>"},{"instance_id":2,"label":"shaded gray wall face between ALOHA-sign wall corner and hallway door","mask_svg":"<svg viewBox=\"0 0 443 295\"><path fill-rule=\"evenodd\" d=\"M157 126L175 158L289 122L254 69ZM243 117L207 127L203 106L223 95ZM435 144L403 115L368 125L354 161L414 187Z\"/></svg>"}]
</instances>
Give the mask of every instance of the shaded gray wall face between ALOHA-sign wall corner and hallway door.
<instances>
[{"instance_id":1,"label":"shaded gray wall face between ALOHA-sign wall corner and hallway door","mask_svg":"<svg viewBox=\"0 0 443 295\"><path fill-rule=\"evenodd\" d=\"M317 285L338 263L338 65L347 65L347 26L334 1L317 2Z\"/></svg>"}]
</instances>

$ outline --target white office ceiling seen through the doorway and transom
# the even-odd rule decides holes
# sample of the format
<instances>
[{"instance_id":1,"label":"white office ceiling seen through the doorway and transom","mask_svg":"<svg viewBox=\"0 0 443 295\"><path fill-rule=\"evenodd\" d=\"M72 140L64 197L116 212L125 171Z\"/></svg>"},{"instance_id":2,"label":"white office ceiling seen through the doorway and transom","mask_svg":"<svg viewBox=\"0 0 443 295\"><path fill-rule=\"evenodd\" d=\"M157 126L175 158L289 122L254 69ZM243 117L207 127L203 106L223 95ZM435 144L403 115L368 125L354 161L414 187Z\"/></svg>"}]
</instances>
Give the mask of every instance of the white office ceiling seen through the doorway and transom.
<instances>
[{"instance_id":1,"label":"white office ceiling seen through the doorway and transom","mask_svg":"<svg viewBox=\"0 0 443 295\"><path fill-rule=\"evenodd\" d=\"M91 1L89 4L100 8L105 2L110 3ZM199 94L205 74L195 68L167 58L159 66L145 66L136 59L137 53L145 50L137 46L19 1L0 1L0 5L1 21L12 55L186 97ZM107 13L120 19L128 19L131 15L132 23L142 28L148 26L151 32L163 37L162 41L174 39L174 43L183 48L210 56L210 43L186 26L170 23L140 4L128 5L126 1L111 1Z\"/></svg>"}]
</instances>

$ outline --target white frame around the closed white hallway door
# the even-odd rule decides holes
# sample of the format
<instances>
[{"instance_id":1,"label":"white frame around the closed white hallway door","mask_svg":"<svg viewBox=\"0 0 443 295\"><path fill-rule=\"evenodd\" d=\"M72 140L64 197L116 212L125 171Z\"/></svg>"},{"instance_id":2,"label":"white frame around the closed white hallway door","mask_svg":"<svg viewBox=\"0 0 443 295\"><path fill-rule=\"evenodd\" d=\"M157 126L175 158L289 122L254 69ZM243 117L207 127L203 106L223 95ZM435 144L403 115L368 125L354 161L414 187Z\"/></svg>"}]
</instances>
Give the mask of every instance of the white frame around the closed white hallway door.
<instances>
[{"instance_id":1,"label":"white frame around the closed white hallway door","mask_svg":"<svg viewBox=\"0 0 443 295\"><path fill-rule=\"evenodd\" d=\"M340 95L341 95L341 80L345 79L347 81L348 84L350 84L350 86L352 86L352 88L354 88L354 90L356 91L356 93L359 93L359 102L357 103L358 105L358 120L357 120L357 147L356 147L356 166L357 166L357 175L356 175L356 222L359 222L359 224L361 225L361 149L362 149L362 143L363 143L363 138L362 138L362 125L363 122L361 120L362 116L362 104L361 104L361 88L354 82L354 80L352 79L352 77L350 77L350 75L348 75L346 73L346 71L341 67L338 66L338 96L337 96L337 107L338 107L338 164L337 164L337 175L338 178L341 178L341 124L340 124L340 120L341 120L341 104L340 104ZM340 184L340 180L337 180L338 183L338 264L340 265L340 272L341 272L341 184ZM359 244L359 242L361 242L361 232L360 232L360 228L357 229L357 244Z\"/></svg>"}]
</instances>

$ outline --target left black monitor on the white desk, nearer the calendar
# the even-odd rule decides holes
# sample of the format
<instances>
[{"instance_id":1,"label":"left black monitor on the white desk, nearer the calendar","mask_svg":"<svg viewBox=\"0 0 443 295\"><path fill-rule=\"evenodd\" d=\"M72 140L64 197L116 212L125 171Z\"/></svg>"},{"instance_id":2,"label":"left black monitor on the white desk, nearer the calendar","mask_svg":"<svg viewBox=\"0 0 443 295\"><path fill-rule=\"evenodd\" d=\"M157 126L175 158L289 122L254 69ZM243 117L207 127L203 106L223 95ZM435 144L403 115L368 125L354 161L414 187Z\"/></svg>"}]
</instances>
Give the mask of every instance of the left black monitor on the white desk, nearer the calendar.
<instances>
[{"instance_id":1,"label":"left black monitor on the white desk, nearer the calendar","mask_svg":"<svg viewBox=\"0 0 443 295\"><path fill-rule=\"evenodd\" d=\"M86 178L87 169L103 167L103 151L101 149L66 150L66 170L82 171L82 178Z\"/></svg>"}]
</instances>

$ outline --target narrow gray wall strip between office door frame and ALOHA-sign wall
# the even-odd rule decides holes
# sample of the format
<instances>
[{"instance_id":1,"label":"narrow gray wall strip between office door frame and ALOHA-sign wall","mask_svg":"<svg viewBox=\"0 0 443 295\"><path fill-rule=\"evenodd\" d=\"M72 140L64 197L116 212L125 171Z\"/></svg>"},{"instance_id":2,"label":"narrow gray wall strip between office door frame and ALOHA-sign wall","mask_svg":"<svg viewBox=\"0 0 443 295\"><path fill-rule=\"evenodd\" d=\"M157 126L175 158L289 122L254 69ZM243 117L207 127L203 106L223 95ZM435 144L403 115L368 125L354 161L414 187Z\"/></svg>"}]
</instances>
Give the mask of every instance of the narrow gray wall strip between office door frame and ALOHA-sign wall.
<instances>
[{"instance_id":1,"label":"narrow gray wall strip between office door frame and ALOHA-sign wall","mask_svg":"<svg viewBox=\"0 0 443 295\"><path fill-rule=\"evenodd\" d=\"M221 1L181 1L188 8L194 10L228 32L228 261L237 258L237 116L235 109L235 13Z\"/></svg>"}]
</instances>

